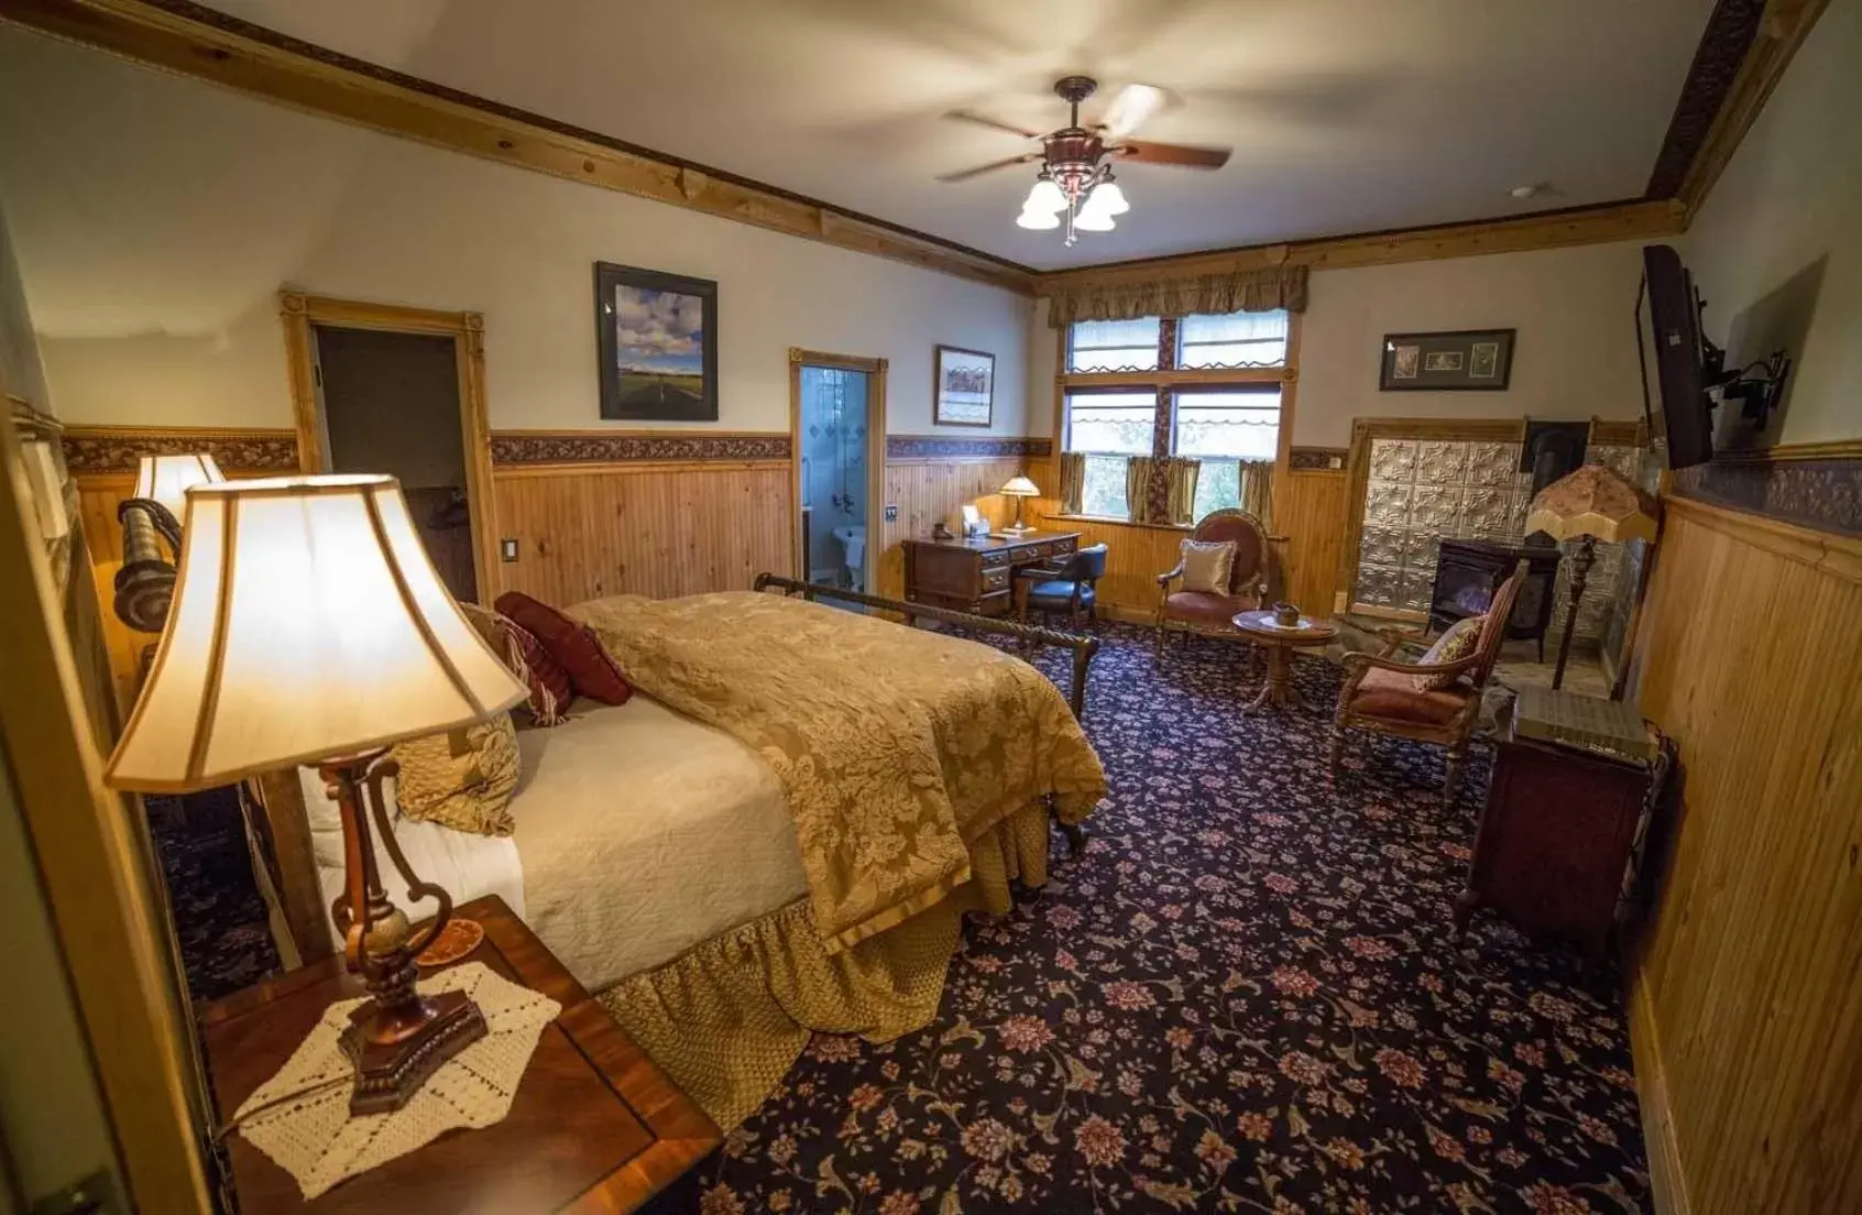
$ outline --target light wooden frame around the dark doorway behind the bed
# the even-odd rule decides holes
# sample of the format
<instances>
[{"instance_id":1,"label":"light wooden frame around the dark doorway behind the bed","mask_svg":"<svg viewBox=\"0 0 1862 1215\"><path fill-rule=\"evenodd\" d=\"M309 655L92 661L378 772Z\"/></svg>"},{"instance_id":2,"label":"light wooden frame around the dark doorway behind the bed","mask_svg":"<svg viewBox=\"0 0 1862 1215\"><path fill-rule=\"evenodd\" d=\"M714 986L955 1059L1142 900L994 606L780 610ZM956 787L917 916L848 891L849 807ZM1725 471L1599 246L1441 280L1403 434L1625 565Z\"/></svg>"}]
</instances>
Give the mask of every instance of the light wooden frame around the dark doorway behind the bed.
<instances>
[{"instance_id":1,"label":"light wooden frame around the dark doorway behind the bed","mask_svg":"<svg viewBox=\"0 0 1862 1215\"><path fill-rule=\"evenodd\" d=\"M285 324L285 369L290 376L290 416L298 430L298 468L307 473L326 471L324 417L317 399L311 326L331 324L344 330L430 334L452 339L460 384L460 436L466 440L466 507L471 518L473 581L479 602L490 606L497 598L501 580L497 501L492 490L492 421L484 395L484 313L449 313L279 291L277 315Z\"/></svg>"}]
</instances>

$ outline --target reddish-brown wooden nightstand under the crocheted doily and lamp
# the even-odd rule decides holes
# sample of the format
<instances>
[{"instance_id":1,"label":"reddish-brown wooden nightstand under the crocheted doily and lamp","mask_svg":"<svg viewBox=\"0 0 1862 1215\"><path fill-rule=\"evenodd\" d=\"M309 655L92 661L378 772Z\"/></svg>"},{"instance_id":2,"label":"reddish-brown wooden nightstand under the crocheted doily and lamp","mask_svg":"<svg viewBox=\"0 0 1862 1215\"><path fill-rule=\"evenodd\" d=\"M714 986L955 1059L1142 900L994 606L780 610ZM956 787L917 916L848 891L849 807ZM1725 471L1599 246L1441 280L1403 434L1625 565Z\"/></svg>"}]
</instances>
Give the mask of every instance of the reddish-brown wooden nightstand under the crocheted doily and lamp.
<instances>
[{"instance_id":1,"label":"reddish-brown wooden nightstand under the crocheted doily and lamp","mask_svg":"<svg viewBox=\"0 0 1862 1215\"><path fill-rule=\"evenodd\" d=\"M484 941L460 962L562 1004L544 1031L510 1114L451 1131L419 1152L343 1181L317 1202L236 1131L225 1139L244 1211L633 1211L719 1144L691 1098L614 1025L497 896L456 911ZM454 963L458 965L458 963ZM231 1118L304 1042L331 1001L363 995L341 958L209 1004L201 1023L218 1116Z\"/></svg>"}]
</instances>

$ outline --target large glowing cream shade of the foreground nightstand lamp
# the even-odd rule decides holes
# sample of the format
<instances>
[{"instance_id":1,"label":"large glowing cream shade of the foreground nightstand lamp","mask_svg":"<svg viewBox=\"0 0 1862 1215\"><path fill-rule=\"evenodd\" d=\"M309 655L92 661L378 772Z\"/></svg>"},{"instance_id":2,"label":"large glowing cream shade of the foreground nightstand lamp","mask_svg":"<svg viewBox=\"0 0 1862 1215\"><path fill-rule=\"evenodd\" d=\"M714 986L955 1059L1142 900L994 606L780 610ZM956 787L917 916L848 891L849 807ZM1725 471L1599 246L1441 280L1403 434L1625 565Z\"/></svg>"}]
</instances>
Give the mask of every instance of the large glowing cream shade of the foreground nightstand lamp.
<instances>
[{"instance_id":1,"label":"large glowing cream shade of the foreground nightstand lamp","mask_svg":"<svg viewBox=\"0 0 1862 1215\"><path fill-rule=\"evenodd\" d=\"M168 632L104 781L186 792L458 729L525 695L393 477L196 485Z\"/></svg>"}]
</instances>

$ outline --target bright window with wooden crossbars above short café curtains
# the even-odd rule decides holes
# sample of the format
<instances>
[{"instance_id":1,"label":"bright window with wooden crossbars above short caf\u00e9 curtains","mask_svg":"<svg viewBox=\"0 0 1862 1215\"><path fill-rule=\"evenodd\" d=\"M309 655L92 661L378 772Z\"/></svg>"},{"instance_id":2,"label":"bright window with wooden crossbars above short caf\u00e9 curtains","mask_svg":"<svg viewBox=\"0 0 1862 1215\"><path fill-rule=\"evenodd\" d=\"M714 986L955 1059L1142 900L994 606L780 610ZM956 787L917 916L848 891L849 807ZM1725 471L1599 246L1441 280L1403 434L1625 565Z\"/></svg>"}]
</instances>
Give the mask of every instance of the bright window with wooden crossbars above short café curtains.
<instances>
[{"instance_id":1,"label":"bright window with wooden crossbars above short caf\u00e9 curtains","mask_svg":"<svg viewBox=\"0 0 1862 1215\"><path fill-rule=\"evenodd\" d=\"M1074 322L1061 382L1063 449L1086 457L1078 509L1132 518L1128 460L1153 451L1201 464L1194 518L1238 507L1240 464L1279 453L1290 341L1283 311Z\"/></svg>"}]
</instances>

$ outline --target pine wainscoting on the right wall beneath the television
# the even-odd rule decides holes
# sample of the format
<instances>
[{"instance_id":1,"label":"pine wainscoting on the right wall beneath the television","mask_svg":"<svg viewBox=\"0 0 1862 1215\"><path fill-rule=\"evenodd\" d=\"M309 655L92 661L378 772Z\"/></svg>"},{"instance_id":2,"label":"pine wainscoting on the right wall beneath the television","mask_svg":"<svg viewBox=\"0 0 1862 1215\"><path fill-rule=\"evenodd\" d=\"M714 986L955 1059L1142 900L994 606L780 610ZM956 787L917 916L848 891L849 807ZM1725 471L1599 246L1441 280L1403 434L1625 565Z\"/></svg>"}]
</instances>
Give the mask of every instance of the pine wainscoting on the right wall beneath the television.
<instances>
[{"instance_id":1,"label":"pine wainscoting on the right wall beneath the television","mask_svg":"<svg viewBox=\"0 0 1862 1215\"><path fill-rule=\"evenodd\" d=\"M1862 1209L1862 540L1670 498L1642 619L1685 771L1633 978L1665 1209Z\"/></svg>"}]
</instances>

